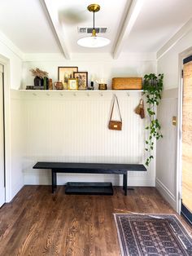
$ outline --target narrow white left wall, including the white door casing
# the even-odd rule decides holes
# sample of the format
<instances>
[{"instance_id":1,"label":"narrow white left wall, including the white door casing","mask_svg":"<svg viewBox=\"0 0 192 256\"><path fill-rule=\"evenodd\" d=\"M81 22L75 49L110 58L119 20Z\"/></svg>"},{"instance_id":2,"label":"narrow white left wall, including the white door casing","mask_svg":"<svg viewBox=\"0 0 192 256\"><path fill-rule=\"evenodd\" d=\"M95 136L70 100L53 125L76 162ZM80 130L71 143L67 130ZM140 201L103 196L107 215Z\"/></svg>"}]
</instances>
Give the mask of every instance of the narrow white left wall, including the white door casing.
<instances>
[{"instance_id":1,"label":"narrow white left wall, including the white door casing","mask_svg":"<svg viewBox=\"0 0 192 256\"><path fill-rule=\"evenodd\" d=\"M20 88L22 77L22 58L20 50L13 45L2 33L0 33L0 55L2 60L6 58L7 68L5 74L5 113L6 113L6 201L11 201L20 188L24 185L22 174L22 150L21 139L21 108L20 104L13 103L10 96L10 88ZM10 106L11 105L11 106ZM22 139L21 139L22 141Z\"/></svg>"}]
</instances>

